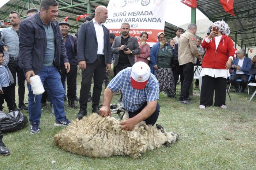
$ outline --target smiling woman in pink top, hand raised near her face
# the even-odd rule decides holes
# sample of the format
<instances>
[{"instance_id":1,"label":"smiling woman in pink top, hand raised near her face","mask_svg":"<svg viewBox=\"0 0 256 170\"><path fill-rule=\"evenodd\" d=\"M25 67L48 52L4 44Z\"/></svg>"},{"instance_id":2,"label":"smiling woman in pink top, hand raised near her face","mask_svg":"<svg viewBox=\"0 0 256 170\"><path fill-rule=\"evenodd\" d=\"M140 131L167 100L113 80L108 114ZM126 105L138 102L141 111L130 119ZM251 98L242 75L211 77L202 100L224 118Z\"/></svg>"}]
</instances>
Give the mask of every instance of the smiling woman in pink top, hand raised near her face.
<instances>
[{"instance_id":1,"label":"smiling woman in pink top, hand raised near her face","mask_svg":"<svg viewBox=\"0 0 256 170\"><path fill-rule=\"evenodd\" d=\"M146 32L141 33L140 41L138 42L140 46L140 54L135 55L135 63L138 61L143 61L144 63L148 64L147 58L150 54L150 45L147 44L147 40L148 34Z\"/></svg>"}]
</instances>

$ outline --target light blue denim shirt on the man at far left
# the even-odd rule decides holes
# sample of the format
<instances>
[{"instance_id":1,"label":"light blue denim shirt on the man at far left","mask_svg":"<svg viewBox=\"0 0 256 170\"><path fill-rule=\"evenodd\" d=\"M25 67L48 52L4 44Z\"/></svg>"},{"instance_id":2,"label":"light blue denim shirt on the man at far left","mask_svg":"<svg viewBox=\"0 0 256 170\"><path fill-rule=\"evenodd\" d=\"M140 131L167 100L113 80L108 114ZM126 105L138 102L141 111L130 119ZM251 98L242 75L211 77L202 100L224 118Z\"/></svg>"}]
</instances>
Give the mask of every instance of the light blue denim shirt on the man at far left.
<instances>
[{"instance_id":1,"label":"light blue denim shirt on the man at far left","mask_svg":"<svg viewBox=\"0 0 256 170\"><path fill-rule=\"evenodd\" d=\"M3 45L9 46L8 52L10 56L19 56L19 36L13 27L3 28L1 30L1 40Z\"/></svg>"}]
</instances>

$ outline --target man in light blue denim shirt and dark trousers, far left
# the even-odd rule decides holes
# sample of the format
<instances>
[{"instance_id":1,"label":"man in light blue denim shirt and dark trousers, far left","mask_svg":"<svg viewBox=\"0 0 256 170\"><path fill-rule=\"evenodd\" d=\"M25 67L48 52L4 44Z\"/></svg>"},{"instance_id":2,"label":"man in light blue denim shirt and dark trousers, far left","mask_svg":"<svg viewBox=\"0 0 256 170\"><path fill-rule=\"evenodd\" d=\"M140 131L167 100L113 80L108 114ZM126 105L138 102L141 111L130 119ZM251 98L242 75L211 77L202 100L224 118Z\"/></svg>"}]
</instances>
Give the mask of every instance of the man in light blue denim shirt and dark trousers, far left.
<instances>
[{"instance_id":1,"label":"man in light blue denim shirt and dark trousers, far left","mask_svg":"<svg viewBox=\"0 0 256 170\"><path fill-rule=\"evenodd\" d=\"M9 47L8 52L10 54L10 61L8 63L8 68L10 69L12 76L14 78L14 82L11 85L11 89L14 91L12 93L12 100L14 106L12 106L11 110L18 110L15 103L15 86L16 86L16 73L18 77L18 94L19 94L19 108L27 110L27 106L24 104L24 96L25 96L25 75L23 69L19 67L19 24L20 24L20 14L15 11L10 12L10 21L12 26L8 28L3 28L1 30L1 41L3 41L3 45L7 45ZM9 111L11 111L9 110Z\"/></svg>"}]
</instances>

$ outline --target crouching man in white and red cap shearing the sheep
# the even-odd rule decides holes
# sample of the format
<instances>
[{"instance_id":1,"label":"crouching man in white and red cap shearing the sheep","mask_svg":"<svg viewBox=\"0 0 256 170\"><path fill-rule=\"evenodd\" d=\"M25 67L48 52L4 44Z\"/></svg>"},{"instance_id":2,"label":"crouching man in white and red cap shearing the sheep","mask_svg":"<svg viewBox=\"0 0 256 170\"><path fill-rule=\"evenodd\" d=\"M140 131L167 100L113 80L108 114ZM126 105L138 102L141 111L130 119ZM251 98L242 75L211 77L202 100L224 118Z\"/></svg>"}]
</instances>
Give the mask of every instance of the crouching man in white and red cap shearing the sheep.
<instances>
[{"instance_id":1,"label":"crouching man in white and red cap shearing the sheep","mask_svg":"<svg viewBox=\"0 0 256 170\"><path fill-rule=\"evenodd\" d=\"M158 89L157 78L150 73L150 67L139 61L120 71L109 82L99 114L102 117L111 116L110 101L113 92L122 90L123 105L128 110L129 119L120 123L121 128L131 131L141 121L154 125L159 115Z\"/></svg>"}]
</instances>

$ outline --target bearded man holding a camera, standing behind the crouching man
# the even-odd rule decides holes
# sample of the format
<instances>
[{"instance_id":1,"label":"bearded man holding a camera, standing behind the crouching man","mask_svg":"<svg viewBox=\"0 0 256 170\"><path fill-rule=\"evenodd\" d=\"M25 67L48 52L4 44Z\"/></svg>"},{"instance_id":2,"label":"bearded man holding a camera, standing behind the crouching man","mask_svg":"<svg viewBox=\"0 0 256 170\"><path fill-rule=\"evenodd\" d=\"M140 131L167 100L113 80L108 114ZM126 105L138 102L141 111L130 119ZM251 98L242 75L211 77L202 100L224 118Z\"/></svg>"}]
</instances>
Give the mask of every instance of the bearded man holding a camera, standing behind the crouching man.
<instances>
[{"instance_id":1,"label":"bearded man holding a camera, standing behind the crouching man","mask_svg":"<svg viewBox=\"0 0 256 170\"><path fill-rule=\"evenodd\" d=\"M111 52L115 53L114 67L116 67L116 74L121 70L132 67L135 63L134 55L140 54L140 47L137 38L129 35L130 25L129 23L122 23L121 35L115 37ZM123 94L118 102L122 102Z\"/></svg>"}]
</instances>

